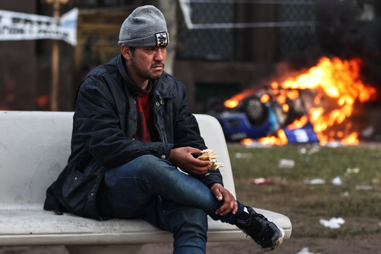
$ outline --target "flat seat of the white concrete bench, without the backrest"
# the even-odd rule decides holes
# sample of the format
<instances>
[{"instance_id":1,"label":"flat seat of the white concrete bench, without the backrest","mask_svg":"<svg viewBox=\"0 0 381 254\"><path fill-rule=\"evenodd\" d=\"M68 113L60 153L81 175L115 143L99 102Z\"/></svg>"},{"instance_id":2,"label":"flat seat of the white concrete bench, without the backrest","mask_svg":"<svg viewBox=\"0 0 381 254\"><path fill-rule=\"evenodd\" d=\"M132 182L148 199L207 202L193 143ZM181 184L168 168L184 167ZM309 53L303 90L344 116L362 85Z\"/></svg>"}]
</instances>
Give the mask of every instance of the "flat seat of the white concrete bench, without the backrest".
<instances>
[{"instance_id":1,"label":"flat seat of the white concrete bench, without the backrest","mask_svg":"<svg viewBox=\"0 0 381 254\"><path fill-rule=\"evenodd\" d=\"M256 210L266 214L268 219L277 225L283 226L285 237L289 237L291 228L284 225L284 222L289 221L286 216L261 209ZM237 227L214 221L210 217L208 217L208 227L208 241L250 240ZM172 242L171 233L159 230L141 219L98 221L68 212L64 215L55 215L42 209L0 211L0 246Z\"/></svg>"}]
</instances>

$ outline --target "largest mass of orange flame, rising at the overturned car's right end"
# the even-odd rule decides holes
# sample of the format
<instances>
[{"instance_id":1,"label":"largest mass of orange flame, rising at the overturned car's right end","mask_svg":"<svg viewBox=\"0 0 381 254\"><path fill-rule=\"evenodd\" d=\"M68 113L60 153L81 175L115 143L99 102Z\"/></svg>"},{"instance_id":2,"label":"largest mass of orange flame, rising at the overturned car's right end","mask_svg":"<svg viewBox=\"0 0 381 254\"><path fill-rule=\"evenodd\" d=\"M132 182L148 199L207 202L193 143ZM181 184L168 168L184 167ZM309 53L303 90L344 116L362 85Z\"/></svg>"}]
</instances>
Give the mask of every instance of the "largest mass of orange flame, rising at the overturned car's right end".
<instances>
[{"instance_id":1,"label":"largest mass of orange flame, rising at the overturned car's right end","mask_svg":"<svg viewBox=\"0 0 381 254\"><path fill-rule=\"evenodd\" d=\"M331 111L325 111L323 107L309 109L309 119L314 125L320 143L324 145L328 141L326 130L331 127L339 127L347 117L351 116L353 105L356 100L365 102L374 100L376 89L370 85L364 85L360 80L359 59L342 61L339 58L330 60L327 57L320 59L317 66L312 67L306 73L296 78L288 78L281 87L284 89L314 89L321 90L323 96L326 95L337 101L338 107ZM315 97L315 104L320 103L322 95ZM330 135L335 139L341 139L346 145L357 145L359 143L358 134L351 133L343 135L343 132L334 132Z\"/></svg>"}]
</instances>

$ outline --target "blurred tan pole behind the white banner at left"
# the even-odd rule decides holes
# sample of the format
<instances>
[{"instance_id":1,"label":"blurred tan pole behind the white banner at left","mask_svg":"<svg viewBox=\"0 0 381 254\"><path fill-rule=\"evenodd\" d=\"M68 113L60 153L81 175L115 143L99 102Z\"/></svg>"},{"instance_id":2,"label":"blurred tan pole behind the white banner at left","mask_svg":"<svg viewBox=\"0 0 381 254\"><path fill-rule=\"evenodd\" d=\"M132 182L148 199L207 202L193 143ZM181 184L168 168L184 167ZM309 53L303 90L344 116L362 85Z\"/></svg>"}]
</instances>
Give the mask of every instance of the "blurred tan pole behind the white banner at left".
<instances>
[{"instance_id":1,"label":"blurred tan pole behind the white banner at left","mask_svg":"<svg viewBox=\"0 0 381 254\"><path fill-rule=\"evenodd\" d=\"M59 17L59 2L53 3L53 17ZM59 90L59 43L53 40L51 52L51 91L50 91L50 110L58 111L58 90Z\"/></svg>"}]
</instances>

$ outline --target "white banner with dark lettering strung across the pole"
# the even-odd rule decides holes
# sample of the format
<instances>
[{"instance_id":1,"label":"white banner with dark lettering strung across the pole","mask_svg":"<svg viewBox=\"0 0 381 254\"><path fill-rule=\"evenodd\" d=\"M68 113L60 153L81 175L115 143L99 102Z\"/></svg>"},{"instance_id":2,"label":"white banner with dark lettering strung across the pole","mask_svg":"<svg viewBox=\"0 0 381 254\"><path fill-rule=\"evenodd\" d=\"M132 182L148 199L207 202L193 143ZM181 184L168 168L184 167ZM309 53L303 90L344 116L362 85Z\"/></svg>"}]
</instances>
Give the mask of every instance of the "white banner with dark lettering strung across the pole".
<instances>
[{"instance_id":1,"label":"white banner with dark lettering strung across the pole","mask_svg":"<svg viewBox=\"0 0 381 254\"><path fill-rule=\"evenodd\" d=\"M60 18L0 10L0 40L55 39L77 45L78 8Z\"/></svg>"}]
</instances>

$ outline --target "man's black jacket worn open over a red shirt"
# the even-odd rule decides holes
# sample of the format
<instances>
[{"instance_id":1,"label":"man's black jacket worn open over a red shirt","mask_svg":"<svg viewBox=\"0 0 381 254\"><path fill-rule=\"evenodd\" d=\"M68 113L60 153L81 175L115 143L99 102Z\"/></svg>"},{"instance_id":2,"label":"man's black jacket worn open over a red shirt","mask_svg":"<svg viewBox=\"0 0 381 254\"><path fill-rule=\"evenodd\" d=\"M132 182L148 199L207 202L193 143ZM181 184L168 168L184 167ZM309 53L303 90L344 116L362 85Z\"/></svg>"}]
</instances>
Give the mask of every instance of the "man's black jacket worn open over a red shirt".
<instances>
[{"instance_id":1,"label":"man's black jacket worn open over a red shirt","mask_svg":"<svg viewBox=\"0 0 381 254\"><path fill-rule=\"evenodd\" d=\"M130 80L125 68L124 58L119 55L93 69L78 88L71 154L67 166L46 191L45 210L102 219L96 197L107 169L144 154L169 160L175 147L206 148L197 121L188 112L184 85L166 72L154 81L151 97L161 141L134 140L135 102L141 88ZM207 186L223 184L218 169L208 173L194 177Z\"/></svg>"}]
</instances>

